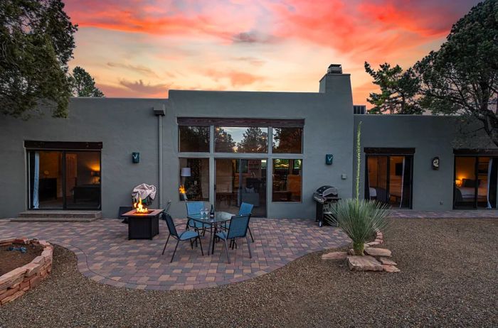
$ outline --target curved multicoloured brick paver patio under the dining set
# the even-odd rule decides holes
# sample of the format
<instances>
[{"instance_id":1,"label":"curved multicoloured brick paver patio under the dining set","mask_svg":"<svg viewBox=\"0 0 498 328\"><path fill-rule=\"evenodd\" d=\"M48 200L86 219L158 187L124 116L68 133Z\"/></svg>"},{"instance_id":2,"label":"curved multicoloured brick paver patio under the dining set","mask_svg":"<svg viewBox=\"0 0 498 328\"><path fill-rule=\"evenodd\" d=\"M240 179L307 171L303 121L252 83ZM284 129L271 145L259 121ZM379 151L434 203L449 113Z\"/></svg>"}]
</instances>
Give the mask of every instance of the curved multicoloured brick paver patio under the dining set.
<instances>
[{"instance_id":1,"label":"curved multicoloured brick paver patio under the dining set","mask_svg":"<svg viewBox=\"0 0 498 328\"><path fill-rule=\"evenodd\" d=\"M176 224L185 224L176 219ZM170 241L161 255L168 236L161 220L159 236L151 240L127 239L127 225L117 219L95 222L8 222L0 220L2 238L26 236L46 239L73 251L78 256L78 269L99 283L149 290L188 290L207 288L269 273L307 253L343 246L349 239L332 226L319 228L312 220L259 219L250 223L255 237L249 258L245 241L230 250L231 264L226 261L222 243L217 243L213 256L207 256L208 234L203 238L206 251L190 248L181 242L175 261L169 263L176 241Z\"/></svg>"}]
</instances>

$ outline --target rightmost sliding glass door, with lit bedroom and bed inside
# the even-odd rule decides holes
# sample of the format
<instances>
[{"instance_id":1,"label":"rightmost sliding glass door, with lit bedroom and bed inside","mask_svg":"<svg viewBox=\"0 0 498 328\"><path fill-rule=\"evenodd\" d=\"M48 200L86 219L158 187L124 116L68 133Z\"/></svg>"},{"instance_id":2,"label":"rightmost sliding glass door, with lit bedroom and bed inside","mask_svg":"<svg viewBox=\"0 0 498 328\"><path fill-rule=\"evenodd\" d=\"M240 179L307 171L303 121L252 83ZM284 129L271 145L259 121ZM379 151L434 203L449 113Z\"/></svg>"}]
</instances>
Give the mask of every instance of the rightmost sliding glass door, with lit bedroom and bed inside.
<instances>
[{"instance_id":1,"label":"rightmost sliding glass door, with lit bedroom and bed inside","mask_svg":"<svg viewBox=\"0 0 498 328\"><path fill-rule=\"evenodd\" d=\"M455 156L453 207L497 208L498 158Z\"/></svg>"}]
</instances>

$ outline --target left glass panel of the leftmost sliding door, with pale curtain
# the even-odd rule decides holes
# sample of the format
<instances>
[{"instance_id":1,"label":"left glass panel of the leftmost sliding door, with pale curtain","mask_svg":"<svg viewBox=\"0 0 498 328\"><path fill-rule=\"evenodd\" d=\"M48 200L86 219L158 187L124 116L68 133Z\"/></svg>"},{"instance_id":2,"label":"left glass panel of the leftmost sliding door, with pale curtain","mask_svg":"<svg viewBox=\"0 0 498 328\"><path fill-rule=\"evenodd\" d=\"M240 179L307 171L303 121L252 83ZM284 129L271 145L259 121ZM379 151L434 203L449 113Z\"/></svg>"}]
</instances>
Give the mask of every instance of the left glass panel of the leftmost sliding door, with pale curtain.
<instances>
[{"instance_id":1,"label":"left glass panel of the leftmost sliding door, with pale curtain","mask_svg":"<svg viewBox=\"0 0 498 328\"><path fill-rule=\"evenodd\" d=\"M63 208L63 169L61 151L30 151L30 209Z\"/></svg>"}]
</instances>

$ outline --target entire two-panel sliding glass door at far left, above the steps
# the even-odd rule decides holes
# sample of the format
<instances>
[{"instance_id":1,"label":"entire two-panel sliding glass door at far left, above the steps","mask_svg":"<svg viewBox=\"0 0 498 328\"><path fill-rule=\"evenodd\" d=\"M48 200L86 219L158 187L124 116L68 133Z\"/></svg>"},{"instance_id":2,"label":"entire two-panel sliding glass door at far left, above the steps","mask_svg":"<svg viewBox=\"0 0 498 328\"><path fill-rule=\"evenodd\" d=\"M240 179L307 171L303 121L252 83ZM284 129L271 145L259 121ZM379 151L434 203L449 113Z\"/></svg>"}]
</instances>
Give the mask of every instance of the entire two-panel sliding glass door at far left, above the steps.
<instances>
[{"instance_id":1,"label":"entire two-panel sliding glass door at far left, above the steps","mask_svg":"<svg viewBox=\"0 0 498 328\"><path fill-rule=\"evenodd\" d=\"M28 151L30 209L100 209L100 151Z\"/></svg>"}]
</instances>

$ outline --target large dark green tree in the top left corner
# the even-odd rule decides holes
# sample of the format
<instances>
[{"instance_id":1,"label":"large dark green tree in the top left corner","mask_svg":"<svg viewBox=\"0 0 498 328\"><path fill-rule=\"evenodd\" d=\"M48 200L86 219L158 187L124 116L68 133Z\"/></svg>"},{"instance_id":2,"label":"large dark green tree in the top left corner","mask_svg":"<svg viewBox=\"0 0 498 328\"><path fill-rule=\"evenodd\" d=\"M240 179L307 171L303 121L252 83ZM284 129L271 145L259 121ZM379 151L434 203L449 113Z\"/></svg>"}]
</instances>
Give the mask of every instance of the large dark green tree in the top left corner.
<instances>
[{"instance_id":1,"label":"large dark green tree in the top left corner","mask_svg":"<svg viewBox=\"0 0 498 328\"><path fill-rule=\"evenodd\" d=\"M38 105L68 114L68 60L77 30L60 0L0 1L0 112L28 118Z\"/></svg>"}]
</instances>

